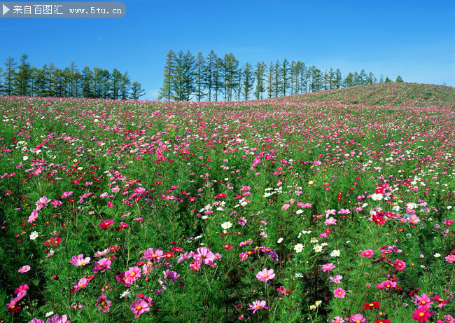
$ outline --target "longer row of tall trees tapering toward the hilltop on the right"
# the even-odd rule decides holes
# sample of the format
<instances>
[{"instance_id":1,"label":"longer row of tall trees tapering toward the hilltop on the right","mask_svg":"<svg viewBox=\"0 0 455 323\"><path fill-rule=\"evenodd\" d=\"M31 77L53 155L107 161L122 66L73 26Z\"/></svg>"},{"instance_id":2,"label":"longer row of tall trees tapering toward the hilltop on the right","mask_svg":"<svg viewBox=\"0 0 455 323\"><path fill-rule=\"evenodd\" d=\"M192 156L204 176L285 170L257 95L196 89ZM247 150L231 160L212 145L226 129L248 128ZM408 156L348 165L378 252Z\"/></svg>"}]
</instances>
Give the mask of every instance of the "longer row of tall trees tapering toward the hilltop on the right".
<instances>
[{"instance_id":1,"label":"longer row of tall trees tapering toward the hilltop on the right","mask_svg":"<svg viewBox=\"0 0 455 323\"><path fill-rule=\"evenodd\" d=\"M381 83L389 81L389 78L384 81L382 76L379 80ZM400 76L397 81L402 81ZM254 67L246 62L240 67L232 53L218 56L211 50L207 57L201 52L195 57L190 50L186 53L169 50L158 99L263 99L372 83L377 83L377 78L364 69L350 72L343 78L339 69L321 71L300 60L276 60L268 66L265 62L257 62Z\"/></svg>"}]
</instances>

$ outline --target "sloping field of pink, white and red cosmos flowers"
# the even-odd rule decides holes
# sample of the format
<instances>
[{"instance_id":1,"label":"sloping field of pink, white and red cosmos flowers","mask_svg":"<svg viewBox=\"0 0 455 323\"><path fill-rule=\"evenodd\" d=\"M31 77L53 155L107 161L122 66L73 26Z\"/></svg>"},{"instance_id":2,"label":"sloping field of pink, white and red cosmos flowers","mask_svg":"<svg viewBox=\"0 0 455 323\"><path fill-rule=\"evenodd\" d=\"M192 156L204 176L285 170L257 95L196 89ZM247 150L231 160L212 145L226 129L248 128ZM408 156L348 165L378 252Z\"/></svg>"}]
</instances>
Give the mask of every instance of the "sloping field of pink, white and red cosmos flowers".
<instances>
[{"instance_id":1,"label":"sloping field of pink, white and red cosmos flowers","mask_svg":"<svg viewBox=\"0 0 455 323\"><path fill-rule=\"evenodd\" d=\"M0 113L3 322L455 322L454 88Z\"/></svg>"}]
</instances>

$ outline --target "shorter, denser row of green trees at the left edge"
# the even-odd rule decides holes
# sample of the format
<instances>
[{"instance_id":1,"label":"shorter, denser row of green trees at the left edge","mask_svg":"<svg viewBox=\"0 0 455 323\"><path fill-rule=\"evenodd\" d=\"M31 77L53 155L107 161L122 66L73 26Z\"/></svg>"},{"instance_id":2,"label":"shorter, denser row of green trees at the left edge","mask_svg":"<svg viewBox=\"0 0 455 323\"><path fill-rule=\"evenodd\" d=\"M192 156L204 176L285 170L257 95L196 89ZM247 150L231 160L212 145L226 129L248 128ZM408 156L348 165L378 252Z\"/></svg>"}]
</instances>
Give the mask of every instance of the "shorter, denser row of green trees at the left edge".
<instances>
[{"instance_id":1,"label":"shorter, denser row of green trees at the left edge","mask_svg":"<svg viewBox=\"0 0 455 323\"><path fill-rule=\"evenodd\" d=\"M27 60L28 55L22 55L18 65L8 57L5 68L0 67L0 95L139 99L145 94L141 83L132 82L127 71L87 66L80 70L74 62L64 69L52 62L39 69Z\"/></svg>"}]
</instances>

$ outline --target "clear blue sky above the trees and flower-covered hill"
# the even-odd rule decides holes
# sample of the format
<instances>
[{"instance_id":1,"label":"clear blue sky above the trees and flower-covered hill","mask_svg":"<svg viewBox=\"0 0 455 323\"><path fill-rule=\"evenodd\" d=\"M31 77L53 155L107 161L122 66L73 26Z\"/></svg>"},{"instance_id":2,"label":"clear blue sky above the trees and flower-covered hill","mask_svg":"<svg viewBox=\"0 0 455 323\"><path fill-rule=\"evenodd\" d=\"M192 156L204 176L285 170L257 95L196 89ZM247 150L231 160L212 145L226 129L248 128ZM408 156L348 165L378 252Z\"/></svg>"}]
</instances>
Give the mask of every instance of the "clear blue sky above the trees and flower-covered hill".
<instances>
[{"instance_id":1,"label":"clear blue sky above the trees and flower-covered hill","mask_svg":"<svg viewBox=\"0 0 455 323\"><path fill-rule=\"evenodd\" d=\"M141 82L142 99L157 99L169 49L455 86L454 0L122 2L123 18L0 18L0 61L115 67Z\"/></svg>"}]
</instances>

